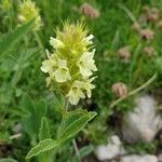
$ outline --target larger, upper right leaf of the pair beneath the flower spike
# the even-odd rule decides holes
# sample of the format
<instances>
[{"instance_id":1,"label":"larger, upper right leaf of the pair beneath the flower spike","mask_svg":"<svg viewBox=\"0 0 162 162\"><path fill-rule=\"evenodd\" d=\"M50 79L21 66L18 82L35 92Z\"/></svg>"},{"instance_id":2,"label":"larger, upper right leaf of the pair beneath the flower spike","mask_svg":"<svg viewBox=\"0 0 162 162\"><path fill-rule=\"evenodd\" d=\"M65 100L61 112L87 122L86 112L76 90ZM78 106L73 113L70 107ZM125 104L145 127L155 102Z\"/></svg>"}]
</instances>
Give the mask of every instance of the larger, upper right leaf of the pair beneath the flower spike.
<instances>
[{"instance_id":1,"label":"larger, upper right leaf of the pair beneath the flower spike","mask_svg":"<svg viewBox=\"0 0 162 162\"><path fill-rule=\"evenodd\" d=\"M60 132L60 140L65 141L77 135L96 116L96 112L77 111L69 112ZM68 123L68 124L67 124Z\"/></svg>"}]
</instances>

